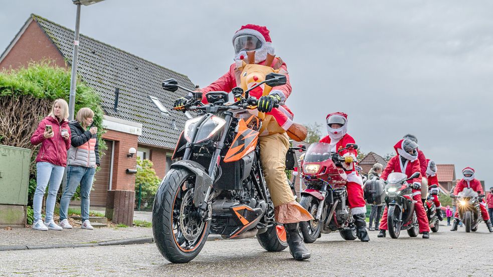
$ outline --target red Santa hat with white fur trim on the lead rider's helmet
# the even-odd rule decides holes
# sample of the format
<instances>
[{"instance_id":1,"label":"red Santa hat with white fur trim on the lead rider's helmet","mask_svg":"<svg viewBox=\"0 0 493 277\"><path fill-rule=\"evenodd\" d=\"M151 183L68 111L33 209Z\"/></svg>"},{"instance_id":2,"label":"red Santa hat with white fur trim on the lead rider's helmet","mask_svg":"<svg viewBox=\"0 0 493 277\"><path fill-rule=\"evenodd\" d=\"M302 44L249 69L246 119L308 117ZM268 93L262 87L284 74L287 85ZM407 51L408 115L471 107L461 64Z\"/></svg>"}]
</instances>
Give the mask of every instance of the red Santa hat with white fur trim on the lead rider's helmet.
<instances>
[{"instance_id":1,"label":"red Santa hat with white fur trim on the lead rider's helmet","mask_svg":"<svg viewBox=\"0 0 493 277\"><path fill-rule=\"evenodd\" d=\"M258 64L260 62L265 61L267 59L267 53L270 55L274 55L274 48L272 47L272 40L270 39L269 30L265 26L259 26L254 24L247 24L240 28L240 30L236 31L233 36L232 42L233 46L235 43L235 39L239 36L243 35L251 35L255 36L262 42L262 47L260 49L255 50L255 63ZM246 57L246 52L242 51L235 55L234 60L240 60L241 57ZM270 65L269 65L270 66Z\"/></svg>"}]
</instances>

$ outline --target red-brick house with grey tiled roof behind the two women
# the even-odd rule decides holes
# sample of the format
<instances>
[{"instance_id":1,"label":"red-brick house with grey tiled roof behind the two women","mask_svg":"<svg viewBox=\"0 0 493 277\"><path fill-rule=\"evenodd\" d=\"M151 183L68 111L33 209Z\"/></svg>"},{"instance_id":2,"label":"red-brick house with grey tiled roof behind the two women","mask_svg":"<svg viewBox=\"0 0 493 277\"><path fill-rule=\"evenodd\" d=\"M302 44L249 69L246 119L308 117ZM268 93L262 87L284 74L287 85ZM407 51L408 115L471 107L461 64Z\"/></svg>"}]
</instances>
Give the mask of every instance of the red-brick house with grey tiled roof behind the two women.
<instances>
[{"instance_id":1,"label":"red-brick house with grey tiled roof behind the two women","mask_svg":"<svg viewBox=\"0 0 493 277\"><path fill-rule=\"evenodd\" d=\"M74 31L31 15L0 56L0 69L27 66L30 61L53 60L70 70ZM162 178L187 118L167 109L184 92L165 92L162 80L175 78L193 88L190 79L130 53L80 35L78 76L101 97L103 138L108 146L91 193L91 206L105 206L114 222L131 225L135 202L136 157L150 159ZM118 105L115 100L118 92ZM136 155L127 156L130 148ZM74 202L77 204L78 202Z\"/></svg>"}]
</instances>

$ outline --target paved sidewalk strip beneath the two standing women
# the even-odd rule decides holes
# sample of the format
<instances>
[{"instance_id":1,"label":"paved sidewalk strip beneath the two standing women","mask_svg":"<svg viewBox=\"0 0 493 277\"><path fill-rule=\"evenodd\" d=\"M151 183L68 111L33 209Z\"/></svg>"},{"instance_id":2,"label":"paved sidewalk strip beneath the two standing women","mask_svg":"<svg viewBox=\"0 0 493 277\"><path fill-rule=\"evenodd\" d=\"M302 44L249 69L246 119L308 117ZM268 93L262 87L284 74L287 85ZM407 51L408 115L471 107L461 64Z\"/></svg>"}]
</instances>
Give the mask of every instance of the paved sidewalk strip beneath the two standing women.
<instances>
[{"instance_id":1,"label":"paved sidewalk strip beneath the two standing women","mask_svg":"<svg viewBox=\"0 0 493 277\"><path fill-rule=\"evenodd\" d=\"M32 228L13 228L12 230L0 229L0 245L42 245L57 243L89 243L94 241L107 241L133 237L152 237L152 228L126 227L126 228L94 228L86 230L74 226L73 229L61 231L38 231ZM0 254L1 255L1 254Z\"/></svg>"}]
</instances>

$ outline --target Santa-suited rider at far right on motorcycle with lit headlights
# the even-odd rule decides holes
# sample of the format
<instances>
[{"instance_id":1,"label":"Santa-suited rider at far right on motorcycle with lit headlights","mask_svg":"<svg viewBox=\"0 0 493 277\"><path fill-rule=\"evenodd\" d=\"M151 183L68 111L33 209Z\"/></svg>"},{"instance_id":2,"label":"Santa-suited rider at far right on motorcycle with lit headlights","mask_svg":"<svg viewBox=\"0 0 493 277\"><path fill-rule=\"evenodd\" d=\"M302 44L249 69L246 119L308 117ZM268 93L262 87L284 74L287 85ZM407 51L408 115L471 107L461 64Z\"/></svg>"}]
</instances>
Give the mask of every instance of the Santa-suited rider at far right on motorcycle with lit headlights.
<instances>
[{"instance_id":1,"label":"Santa-suited rider at far right on motorcycle with lit headlights","mask_svg":"<svg viewBox=\"0 0 493 277\"><path fill-rule=\"evenodd\" d=\"M478 192L479 194L484 194L483 188L481 186L481 182L474 178L474 169L472 167L466 167L462 169L462 175L464 178L462 178L460 181L457 182L457 185L455 185L454 189L454 195L457 195L459 192L464 190L464 188L471 188L473 191ZM489 215L488 212L486 211L486 202L484 202L484 199L481 199L479 202L479 208L481 209L481 215L482 218L484 219L484 223L486 223L486 226L488 227L489 232L493 232L493 226L491 225L491 221L489 220ZM454 222L451 231L456 231L457 230L457 225L459 224L459 209L455 211L454 214Z\"/></svg>"}]
</instances>

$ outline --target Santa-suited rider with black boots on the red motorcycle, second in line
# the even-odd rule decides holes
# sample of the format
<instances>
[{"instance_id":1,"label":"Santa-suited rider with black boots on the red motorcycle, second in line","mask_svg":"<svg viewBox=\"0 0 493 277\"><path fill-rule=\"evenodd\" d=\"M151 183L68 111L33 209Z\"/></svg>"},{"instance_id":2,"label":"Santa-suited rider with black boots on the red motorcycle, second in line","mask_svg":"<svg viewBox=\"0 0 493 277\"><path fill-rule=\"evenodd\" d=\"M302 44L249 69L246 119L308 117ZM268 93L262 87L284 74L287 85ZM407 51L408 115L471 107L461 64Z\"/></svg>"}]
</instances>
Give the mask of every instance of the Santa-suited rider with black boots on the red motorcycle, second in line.
<instances>
[{"instance_id":1,"label":"Santa-suited rider with black boots on the red motorcycle, second in line","mask_svg":"<svg viewBox=\"0 0 493 277\"><path fill-rule=\"evenodd\" d=\"M328 143L332 146L332 152L346 147L348 143L355 143L352 136L348 134L348 115L345 113L332 113L326 117L328 135L320 142ZM351 208L357 227L358 238L361 241L369 241L370 236L366 230L366 201L363 197L363 180L356 171L357 151L349 148L342 151L345 159L344 170L348 176L346 187L348 189L348 203Z\"/></svg>"}]
</instances>

